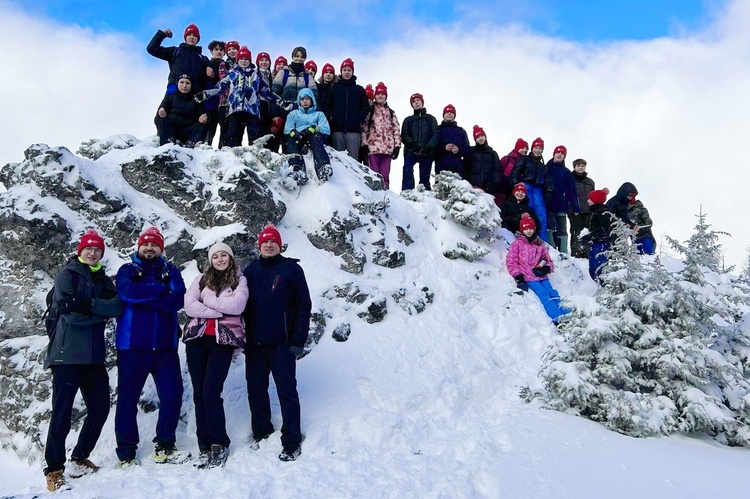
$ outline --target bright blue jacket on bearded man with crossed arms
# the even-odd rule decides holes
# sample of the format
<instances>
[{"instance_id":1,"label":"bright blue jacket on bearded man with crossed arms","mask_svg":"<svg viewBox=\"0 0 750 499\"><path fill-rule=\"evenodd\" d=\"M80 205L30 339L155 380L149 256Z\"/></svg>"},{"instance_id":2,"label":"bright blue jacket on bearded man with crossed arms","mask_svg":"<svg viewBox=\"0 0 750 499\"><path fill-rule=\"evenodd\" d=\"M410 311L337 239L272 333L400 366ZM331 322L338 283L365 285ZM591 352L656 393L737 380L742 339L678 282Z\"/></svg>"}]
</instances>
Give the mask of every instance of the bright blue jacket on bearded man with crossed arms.
<instances>
[{"instance_id":1,"label":"bright blue jacket on bearded man with crossed arms","mask_svg":"<svg viewBox=\"0 0 750 499\"><path fill-rule=\"evenodd\" d=\"M120 267L115 287L124 310L117 320L115 346L119 350L177 348L177 312L185 300L185 282L177 267L164 257Z\"/></svg>"}]
</instances>

